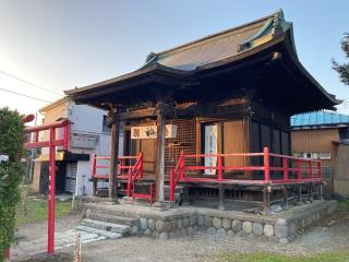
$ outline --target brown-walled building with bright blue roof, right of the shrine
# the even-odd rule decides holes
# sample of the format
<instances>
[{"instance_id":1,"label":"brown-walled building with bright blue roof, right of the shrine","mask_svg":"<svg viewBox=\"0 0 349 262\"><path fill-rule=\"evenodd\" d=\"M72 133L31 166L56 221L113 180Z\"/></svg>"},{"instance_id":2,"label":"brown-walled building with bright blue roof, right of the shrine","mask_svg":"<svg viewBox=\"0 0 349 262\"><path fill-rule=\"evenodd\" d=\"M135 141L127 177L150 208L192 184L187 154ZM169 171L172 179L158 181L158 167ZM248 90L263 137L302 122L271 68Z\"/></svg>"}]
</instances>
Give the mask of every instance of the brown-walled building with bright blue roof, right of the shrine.
<instances>
[{"instance_id":1,"label":"brown-walled building with bright blue roof, right of the shrine","mask_svg":"<svg viewBox=\"0 0 349 262\"><path fill-rule=\"evenodd\" d=\"M325 192L349 194L349 116L317 111L291 117L293 156L321 158Z\"/></svg>"}]
</instances>

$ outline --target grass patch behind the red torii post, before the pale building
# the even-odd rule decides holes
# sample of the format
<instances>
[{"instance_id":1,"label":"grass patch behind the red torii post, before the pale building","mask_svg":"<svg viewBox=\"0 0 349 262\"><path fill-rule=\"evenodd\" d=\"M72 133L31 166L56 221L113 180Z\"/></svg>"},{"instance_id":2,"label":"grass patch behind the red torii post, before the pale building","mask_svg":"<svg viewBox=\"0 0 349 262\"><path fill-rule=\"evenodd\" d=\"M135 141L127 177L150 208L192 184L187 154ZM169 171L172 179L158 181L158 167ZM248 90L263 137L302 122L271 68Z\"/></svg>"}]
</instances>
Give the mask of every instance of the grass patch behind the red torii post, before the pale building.
<instances>
[{"instance_id":1,"label":"grass patch behind the red torii post, before the pale building","mask_svg":"<svg viewBox=\"0 0 349 262\"><path fill-rule=\"evenodd\" d=\"M17 225L38 223L47 221L47 200L41 198L26 198L16 207ZM56 217L64 216L71 213L71 201L56 200Z\"/></svg>"}]
</instances>

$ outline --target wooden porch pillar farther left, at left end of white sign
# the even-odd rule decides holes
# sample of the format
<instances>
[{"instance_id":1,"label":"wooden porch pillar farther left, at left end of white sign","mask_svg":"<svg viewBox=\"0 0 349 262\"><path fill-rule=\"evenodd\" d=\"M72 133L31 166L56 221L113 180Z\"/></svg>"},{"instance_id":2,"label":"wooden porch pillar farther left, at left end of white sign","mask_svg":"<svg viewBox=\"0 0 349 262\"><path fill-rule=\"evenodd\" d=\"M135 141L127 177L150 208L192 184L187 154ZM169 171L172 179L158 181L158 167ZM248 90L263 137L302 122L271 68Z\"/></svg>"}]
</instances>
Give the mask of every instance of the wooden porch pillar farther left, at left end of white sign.
<instances>
[{"instance_id":1,"label":"wooden porch pillar farther left, at left end of white sign","mask_svg":"<svg viewBox=\"0 0 349 262\"><path fill-rule=\"evenodd\" d=\"M109 199L118 202L118 157L119 157L119 130L120 121L112 111L111 139L110 139L110 168L109 168Z\"/></svg>"}]
</instances>

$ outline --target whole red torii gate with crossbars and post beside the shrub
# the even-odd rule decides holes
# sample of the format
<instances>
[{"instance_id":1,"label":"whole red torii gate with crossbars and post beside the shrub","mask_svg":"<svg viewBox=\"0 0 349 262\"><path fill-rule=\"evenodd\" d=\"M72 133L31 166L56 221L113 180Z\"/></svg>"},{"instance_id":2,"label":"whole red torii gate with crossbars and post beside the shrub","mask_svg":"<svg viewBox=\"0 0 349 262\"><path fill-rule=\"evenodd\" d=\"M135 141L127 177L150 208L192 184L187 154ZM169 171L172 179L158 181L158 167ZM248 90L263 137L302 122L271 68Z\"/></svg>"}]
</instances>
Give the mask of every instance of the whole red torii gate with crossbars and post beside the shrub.
<instances>
[{"instance_id":1,"label":"whole red torii gate with crossbars and post beside the shrub","mask_svg":"<svg viewBox=\"0 0 349 262\"><path fill-rule=\"evenodd\" d=\"M56 139L56 130L63 129L63 139ZM56 196L56 146L63 146L63 150L68 150L69 145L69 120L28 127L26 133L34 134L34 141L24 144L24 147L38 148L49 147L49 186L48 186L48 239L47 239L47 252L53 253L55 251L55 196ZM49 140L39 141L39 132L49 131Z\"/></svg>"}]
</instances>

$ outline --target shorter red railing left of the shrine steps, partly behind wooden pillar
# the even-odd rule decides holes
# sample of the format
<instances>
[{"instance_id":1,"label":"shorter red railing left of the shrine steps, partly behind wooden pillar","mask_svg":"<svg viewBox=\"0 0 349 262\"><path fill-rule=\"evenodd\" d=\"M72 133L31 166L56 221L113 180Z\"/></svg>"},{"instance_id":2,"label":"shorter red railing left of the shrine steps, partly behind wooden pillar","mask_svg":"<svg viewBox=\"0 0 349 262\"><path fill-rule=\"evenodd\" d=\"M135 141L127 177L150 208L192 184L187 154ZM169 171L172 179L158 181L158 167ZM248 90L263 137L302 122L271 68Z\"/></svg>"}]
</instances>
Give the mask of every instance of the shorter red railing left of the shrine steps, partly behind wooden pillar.
<instances>
[{"instance_id":1,"label":"shorter red railing left of the shrine steps, partly behind wooden pillar","mask_svg":"<svg viewBox=\"0 0 349 262\"><path fill-rule=\"evenodd\" d=\"M141 152L137 156L119 156L118 165L118 178L125 179L128 181L127 186L127 195L132 196L132 191L134 189L134 182L143 178L143 153ZM109 175L97 174L98 169L109 170L109 164L98 164L98 160L109 162L110 156L94 156L93 167L92 167L92 178L93 179L109 179ZM135 164L132 165L132 160L135 160Z\"/></svg>"}]
</instances>

